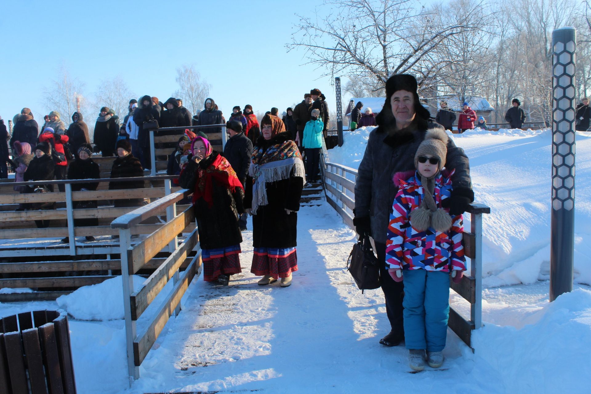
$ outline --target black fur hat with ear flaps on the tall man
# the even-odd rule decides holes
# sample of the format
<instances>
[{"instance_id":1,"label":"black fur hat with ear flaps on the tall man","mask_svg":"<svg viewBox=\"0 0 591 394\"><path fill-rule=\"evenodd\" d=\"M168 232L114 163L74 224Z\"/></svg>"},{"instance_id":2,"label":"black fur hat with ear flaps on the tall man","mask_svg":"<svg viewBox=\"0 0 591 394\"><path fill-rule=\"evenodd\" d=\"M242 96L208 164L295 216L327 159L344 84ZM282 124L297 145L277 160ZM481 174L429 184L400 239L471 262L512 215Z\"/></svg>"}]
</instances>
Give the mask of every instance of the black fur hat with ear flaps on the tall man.
<instances>
[{"instance_id":1,"label":"black fur hat with ear flaps on the tall man","mask_svg":"<svg viewBox=\"0 0 591 394\"><path fill-rule=\"evenodd\" d=\"M390 99L398 90L406 90L412 92L414 96L414 111L415 122L418 122L422 128L427 128L427 122L431 118L429 111L424 108L418 98L418 83L417 79L411 74L394 74L386 81L386 101L384 108L378 113L375 121L378 126L395 125L396 119L392 113L392 104Z\"/></svg>"}]
</instances>

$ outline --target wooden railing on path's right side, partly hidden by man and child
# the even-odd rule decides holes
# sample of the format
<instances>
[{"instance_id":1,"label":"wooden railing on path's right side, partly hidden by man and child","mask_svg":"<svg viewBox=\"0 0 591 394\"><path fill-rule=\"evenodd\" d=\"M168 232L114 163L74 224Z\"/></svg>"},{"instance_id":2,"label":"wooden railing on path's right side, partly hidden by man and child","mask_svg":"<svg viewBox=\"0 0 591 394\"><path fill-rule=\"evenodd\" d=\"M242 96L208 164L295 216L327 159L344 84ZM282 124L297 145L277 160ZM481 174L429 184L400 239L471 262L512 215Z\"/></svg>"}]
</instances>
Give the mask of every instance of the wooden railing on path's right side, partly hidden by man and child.
<instances>
[{"instance_id":1,"label":"wooden railing on path's right side, partly hidden by man and child","mask_svg":"<svg viewBox=\"0 0 591 394\"><path fill-rule=\"evenodd\" d=\"M327 160L326 149L320 155L326 201L343 218L351 229L353 208L355 208L355 183L358 172L345 165ZM462 317L452 307L449 310L448 325L467 346L470 346L472 330L482 327L482 214L491 213L483 204L470 204L466 210L470 214L470 232L464 232L464 253L470 259L470 275L464 275L459 284L450 278L450 287L470 303L470 318Z\"/></svg>"}]
</instances>

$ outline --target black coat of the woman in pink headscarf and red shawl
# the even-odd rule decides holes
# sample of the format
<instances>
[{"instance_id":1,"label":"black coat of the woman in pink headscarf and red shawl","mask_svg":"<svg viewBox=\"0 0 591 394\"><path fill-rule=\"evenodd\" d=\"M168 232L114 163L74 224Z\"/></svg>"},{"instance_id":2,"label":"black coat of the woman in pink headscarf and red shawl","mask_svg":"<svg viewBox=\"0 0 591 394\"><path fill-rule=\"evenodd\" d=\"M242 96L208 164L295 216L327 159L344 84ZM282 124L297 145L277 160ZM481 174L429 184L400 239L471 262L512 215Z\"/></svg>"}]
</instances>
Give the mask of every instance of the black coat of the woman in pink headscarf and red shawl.
<instances>
[{"instance_id":1,"label":"black coat of the woman in pink headscarf and red shawl","mask_svg":"<svg viewBox=\"0 0 591 394\"><path fill-rule=\"evenodd\" d=\"M199 164L189 160L179 178L181 187L194 190L198 181L197 168L207 168L218 155L219 153L213 151ZM235 193L231 193L225 185L213 179L212 194L213 206L210 207L203 198L198 198L193 204L201 248L218 249L241 243L238 216L244 213L244 191L237 187Z\"/></svg>"}]
</instances>

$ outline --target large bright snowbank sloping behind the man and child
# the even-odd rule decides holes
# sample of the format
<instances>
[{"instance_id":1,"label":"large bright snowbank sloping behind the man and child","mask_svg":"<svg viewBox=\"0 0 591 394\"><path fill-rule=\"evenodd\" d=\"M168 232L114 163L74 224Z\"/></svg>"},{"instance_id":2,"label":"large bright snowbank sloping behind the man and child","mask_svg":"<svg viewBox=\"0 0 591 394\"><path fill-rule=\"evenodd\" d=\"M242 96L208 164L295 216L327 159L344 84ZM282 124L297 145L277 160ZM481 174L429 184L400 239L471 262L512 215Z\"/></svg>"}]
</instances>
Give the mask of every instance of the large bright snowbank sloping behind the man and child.
<instances>
[{"instance_id":1,"label":"large bright snowbank sloping behind the man and child","mask_svg":"<svg viewBox=\"0 0 591 394\"><path fill-rule=\"evenodd\" d=\"M369 132L345 133L329 161L358 168ZM475 129L449 133L470 158L476 202L483 215L483 285L532 284L550 275L551 131ZM574 281L591 284L591 155L589 133L576 136ZM465 226L469 229L469 215Z\"/></svg>"}]
</instances>

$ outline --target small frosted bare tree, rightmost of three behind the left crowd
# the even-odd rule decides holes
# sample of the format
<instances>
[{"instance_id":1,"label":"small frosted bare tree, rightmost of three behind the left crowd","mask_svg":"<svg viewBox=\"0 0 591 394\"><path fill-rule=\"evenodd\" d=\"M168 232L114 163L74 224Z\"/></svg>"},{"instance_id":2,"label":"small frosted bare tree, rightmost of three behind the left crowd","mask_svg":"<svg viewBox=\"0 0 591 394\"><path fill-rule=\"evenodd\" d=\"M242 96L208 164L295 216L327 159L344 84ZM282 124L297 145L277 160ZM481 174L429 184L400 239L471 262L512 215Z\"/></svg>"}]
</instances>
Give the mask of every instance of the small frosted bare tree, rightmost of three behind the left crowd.
<instances>
[{"instance_id":1,"label":"small frosted bare tree, rightmost of three behind the left crowd","mask_svg":"<svg viewBox=\"0 0 591 394\"><path fill-rule=\"evenodd\" d=\"M212 86L201 79L201 74L194 64L184 64L177 69L178 89L174 96L183 99L183 106L189 108L191 113L197 113L203 109L203 103L209 97Z\"/></svg>"}]
</instances>

